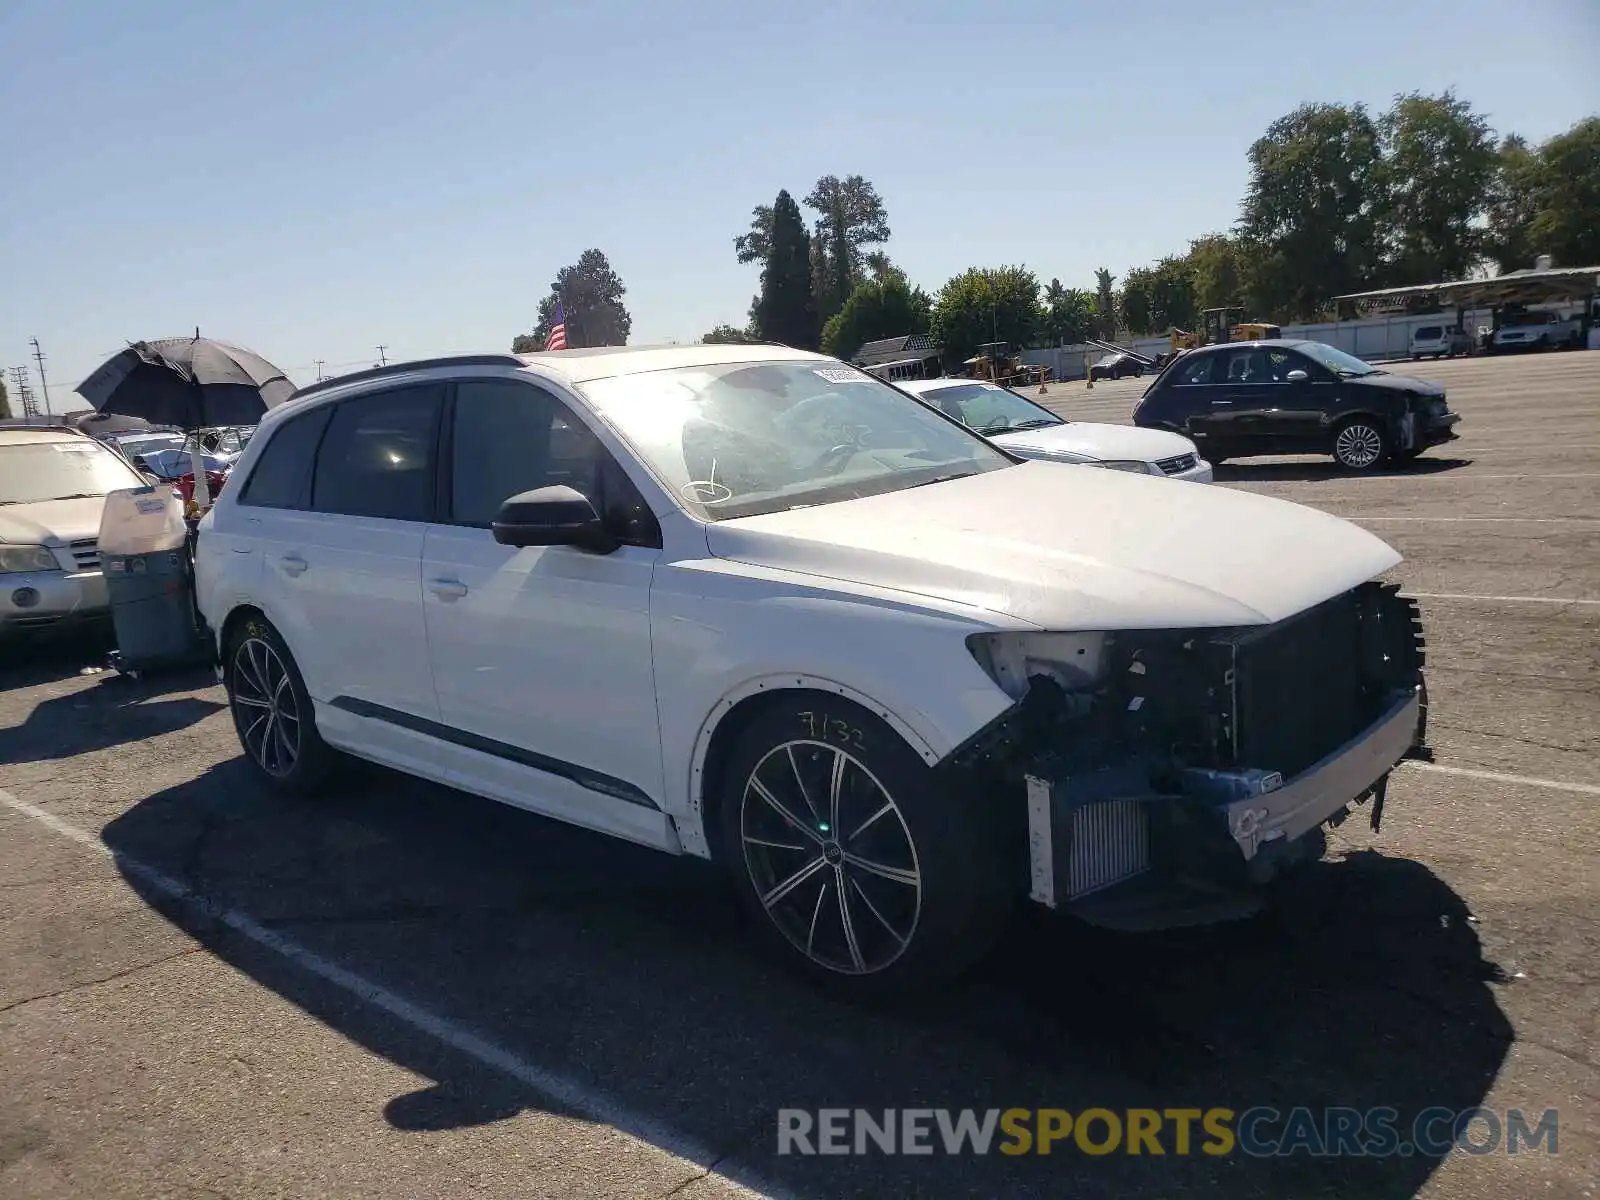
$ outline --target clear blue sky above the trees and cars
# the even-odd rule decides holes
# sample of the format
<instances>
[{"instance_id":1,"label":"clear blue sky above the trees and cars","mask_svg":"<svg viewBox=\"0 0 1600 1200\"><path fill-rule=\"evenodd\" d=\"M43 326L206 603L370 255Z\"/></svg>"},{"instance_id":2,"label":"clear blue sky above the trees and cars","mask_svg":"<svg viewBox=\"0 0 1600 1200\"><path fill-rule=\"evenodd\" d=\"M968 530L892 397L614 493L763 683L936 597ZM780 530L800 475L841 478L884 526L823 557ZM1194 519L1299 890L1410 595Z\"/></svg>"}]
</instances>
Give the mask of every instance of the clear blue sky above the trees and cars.
<instances>
[{"instance_id":1,"label":"clear blue sky above the trees and cars","mask_svg":"<svg viewBox=\"0 0 1600 1200\"><path fill-rule=\"evenodd\" d=\"M6 0L0 45L0 366L37 334L58 411L195 325L301 382L501 349L586 246L635 342L693 341L744 323L750 206L826 173L877 184L930 291L1088 286L1227 227L1301 101L1453 85L1533 139L1600 110L1594 0Z\"/></svg>"}]
</instances>

